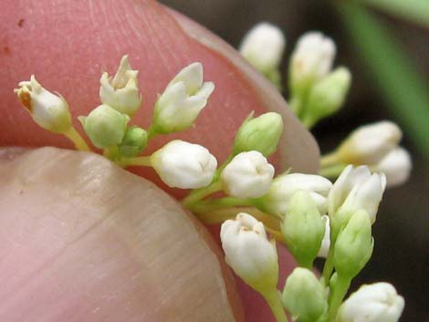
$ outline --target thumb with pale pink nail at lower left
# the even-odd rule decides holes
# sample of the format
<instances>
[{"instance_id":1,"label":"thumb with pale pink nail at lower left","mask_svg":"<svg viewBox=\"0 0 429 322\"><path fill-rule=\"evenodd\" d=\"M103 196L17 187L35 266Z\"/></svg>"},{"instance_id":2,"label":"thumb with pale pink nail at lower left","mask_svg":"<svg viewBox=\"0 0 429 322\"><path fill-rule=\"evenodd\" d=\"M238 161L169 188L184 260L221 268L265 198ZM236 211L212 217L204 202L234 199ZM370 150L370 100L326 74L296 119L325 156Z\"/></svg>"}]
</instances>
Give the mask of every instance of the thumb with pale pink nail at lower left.
<instances>
[{"instance_id":1,"label":"thumb with pale pink nail at lower left","mask_svg":"<svg viewBox=\"0 0 429 322\"><path fill-rule=\"evenodd\" d=\"M242 321L171 197L96 154L20 152L0 153L0 321Z\"/></svg>"}]
</instances>

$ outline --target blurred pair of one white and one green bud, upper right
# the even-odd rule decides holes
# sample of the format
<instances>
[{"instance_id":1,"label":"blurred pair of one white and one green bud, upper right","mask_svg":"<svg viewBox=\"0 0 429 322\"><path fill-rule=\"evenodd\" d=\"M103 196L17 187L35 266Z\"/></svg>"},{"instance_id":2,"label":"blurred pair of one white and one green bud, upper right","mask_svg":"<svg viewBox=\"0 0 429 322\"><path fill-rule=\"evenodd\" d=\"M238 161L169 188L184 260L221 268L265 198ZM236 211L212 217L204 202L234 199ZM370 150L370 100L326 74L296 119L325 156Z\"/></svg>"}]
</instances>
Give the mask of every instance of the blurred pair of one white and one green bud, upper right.
<instances>
[{"instance_id":1,"label":"blurred pair of one white and one green bud, upper right","mask_svg":"<svg viewBox=\"0 0 429 322\"><path fill-rule=\"evenodd\" d=\"M290 58L290 105L309 128L338 111L349 91L349 69L332 70L335 52L329 37L309 32L298 39Z\"/></svg>"}]
</instances>

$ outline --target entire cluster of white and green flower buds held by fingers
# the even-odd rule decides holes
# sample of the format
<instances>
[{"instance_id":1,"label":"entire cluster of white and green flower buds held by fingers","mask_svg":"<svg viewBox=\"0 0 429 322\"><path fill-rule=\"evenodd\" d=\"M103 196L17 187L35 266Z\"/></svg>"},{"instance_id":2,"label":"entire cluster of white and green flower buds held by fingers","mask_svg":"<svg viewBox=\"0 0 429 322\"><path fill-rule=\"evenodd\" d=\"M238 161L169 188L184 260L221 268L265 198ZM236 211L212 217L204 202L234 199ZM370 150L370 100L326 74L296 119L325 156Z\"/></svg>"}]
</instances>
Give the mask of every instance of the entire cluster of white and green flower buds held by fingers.
<instances>
[{"instance_id":1,"label":"entire cluster of white and green flower buds held by fingers","mask_svg":"<svg viewBox=\"0 0 429 322\"><path fill-rule=\"evenodd\" d=\"M277 28L261 25L246 37L242 53L273 77L284 43ZM258 54L261 48L267 55ZM331 71L334 54L329 38L309 33L292 55L292 100L308 124L338 109L349 88L346 68ZM274 112L250 114L235 134L229 157L220 164L203 146L183 140L171 140L144 155L153 137L189 129L206 106L214 84L204 82L201 63L183 68L167 84L154 104L148 129L130 125L143 97L138 71L127 56L116 74L103 73L99 84L99 106L78 117L92 145L121 167L152 167L169 187L192 189L183 205L203 222L222 223L226 263L264 296L277 321L288 321L285 310L298 322L363 317L397 321L403 298L388 284L362 286L343 303L352 278L372 254L371 225L386 188L382 172L389 184L396 160L407 159L397 148L402 133L394 124L358 129L338 151L322 159L322 172L332 167L339 171L334 183L316 174L288 171L276 176L269 157L277 150L283 119ZM78 150L90 151L73 127L65 99L47 91L34 76L19 83L16 94L38 125L67 136ZM299 266L282 293L277 290L276 241L286 244ZM318 256L326 257L321 279L312 272Z\"/></svg>"}]
</instances>

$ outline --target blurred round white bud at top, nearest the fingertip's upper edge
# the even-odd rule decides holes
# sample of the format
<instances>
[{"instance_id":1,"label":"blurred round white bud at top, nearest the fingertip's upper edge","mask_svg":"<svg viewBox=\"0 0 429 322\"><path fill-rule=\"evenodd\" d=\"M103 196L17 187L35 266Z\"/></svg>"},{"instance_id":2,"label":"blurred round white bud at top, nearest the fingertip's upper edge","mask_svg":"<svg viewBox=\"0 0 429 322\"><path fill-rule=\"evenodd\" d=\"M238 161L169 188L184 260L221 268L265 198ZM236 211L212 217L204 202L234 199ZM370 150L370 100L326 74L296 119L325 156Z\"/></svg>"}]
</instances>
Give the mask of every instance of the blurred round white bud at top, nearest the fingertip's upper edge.
<instances>
[{"instance_id":1,"label":"blurred round white bud at top, nearest the fingertip's upper edge","mask_svg":"<svg viewBox=\"0 0 429 322\"><path fill-rule=\"evenodd\" d=\"M240 54L262 73L280 65L286 39L277 26L259 23L250 29L240 45Z\"/></svg>"}]
</instances>

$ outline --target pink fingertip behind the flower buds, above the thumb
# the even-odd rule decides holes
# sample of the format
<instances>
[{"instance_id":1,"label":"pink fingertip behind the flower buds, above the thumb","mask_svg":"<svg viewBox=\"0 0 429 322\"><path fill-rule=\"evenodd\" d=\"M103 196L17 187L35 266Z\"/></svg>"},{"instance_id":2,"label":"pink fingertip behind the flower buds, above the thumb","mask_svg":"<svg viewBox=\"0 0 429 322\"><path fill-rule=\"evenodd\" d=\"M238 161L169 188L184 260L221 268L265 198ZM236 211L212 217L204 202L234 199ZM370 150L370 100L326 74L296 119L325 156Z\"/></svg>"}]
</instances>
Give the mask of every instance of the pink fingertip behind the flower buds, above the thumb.
<instances>
[{"instance_id":1,"label":"pink fingertip behind the flower buds, above the thumb","mask_svg":"<svg viewBox=\"0 0 429 322\"><path fill-rule=\"evenodd\" d=\"M120 57L128 53L131 66L140 70L143 96L142 109L133 119L135 123L148 126L156 93L165 88L178 70L193 61L201 61L204 78L214 81L216 89L196 128L174 137L204 144L218 161L223 161L229 153L225 147L231 146L235 130L251 110L256 114L277 110L282 112L286 123L285 137L272 158L277 170L289 166L295 171L317 170L319 151L314 140L290 115L275 89L221 40L162 5L150 0L39 0L8 2L3 4L2 12L0 146L71 148L68 140L41 130L33 123L26 110L18 104L13 88L18 81L35 74L44 87L58 90L68 100L75 117L86 115L99 104L98 79L101 72L108 70L112 74ZM195 36L204 44L196 41ZM78 122L76 126L79 129ZM155 140L150 151L168 139L170 137ZM183 195L183 192L166 189L153 171L136 172L157 182L176 197ZM216 228L213 229L215 231ZM28 238L28 243L31 243L32 236ZM79 252L85 256L89 250L82 248ZM279 253L282 267L279 286L282 286L284 276L293 265L283 247L279 247ZM13 262L13 254L9 256ZM2 274L0 272L0 280ZM120 278L112 281L118 285L121 283ZM264 301L255 292L240 281L238 291L243 299L247 322L273 321ZM85 301L84 296L81 301ZM25 302L22 305L25 306Z\"/></svg>"}]
</instances>

